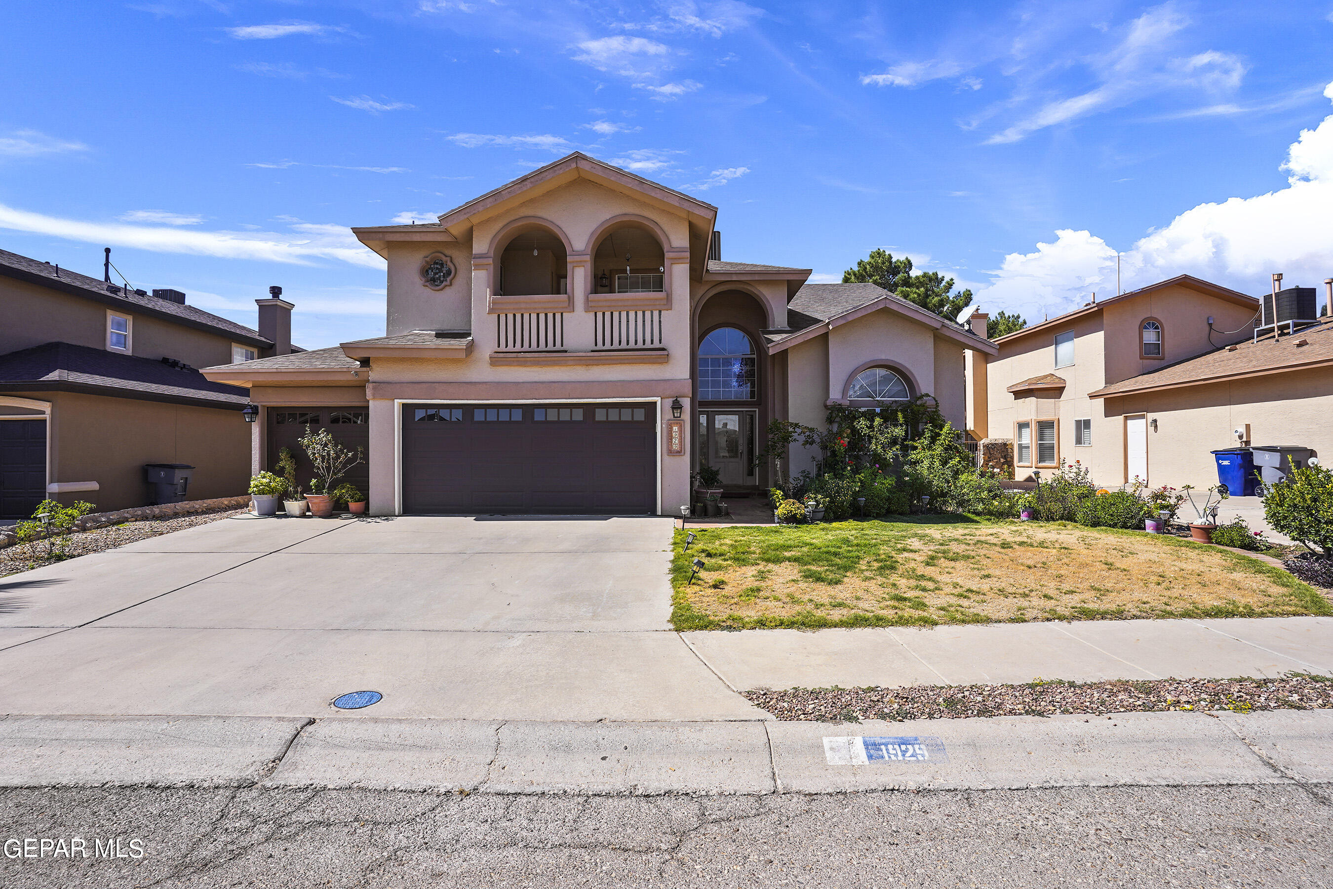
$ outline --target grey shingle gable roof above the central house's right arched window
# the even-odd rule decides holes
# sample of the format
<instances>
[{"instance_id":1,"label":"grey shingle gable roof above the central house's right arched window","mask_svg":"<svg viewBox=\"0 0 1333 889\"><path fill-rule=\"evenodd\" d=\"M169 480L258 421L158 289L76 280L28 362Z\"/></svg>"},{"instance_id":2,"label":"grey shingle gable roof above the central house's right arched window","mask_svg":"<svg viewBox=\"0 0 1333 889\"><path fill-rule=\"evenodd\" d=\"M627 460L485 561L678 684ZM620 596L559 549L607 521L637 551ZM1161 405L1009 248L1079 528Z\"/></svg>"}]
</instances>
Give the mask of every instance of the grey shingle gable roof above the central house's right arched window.
<instances>
[{"instance_id":1,"label":"grey shingle gable roof above the central house's right arched window","mask_svg":"<svg viewBox=\"0 0 1333 889\"><path fill-rule=\"evenodd\" d=\"M870 312L889 309L904 315L918 324L934 328L942 336L960 343L961 345L996 355L998 349L990 340L980 337L969 328L962 327L934 312L922 309L916 303L904 300L889 293L874 284L805 284L786 307L788 324L793 327L790 333L770 331L764 339L769 344L769 352L781 352L812 337L828 333L833 328L864 317ZM797 323L813 321L796 329Z\"/></svg>"}]
</instances>

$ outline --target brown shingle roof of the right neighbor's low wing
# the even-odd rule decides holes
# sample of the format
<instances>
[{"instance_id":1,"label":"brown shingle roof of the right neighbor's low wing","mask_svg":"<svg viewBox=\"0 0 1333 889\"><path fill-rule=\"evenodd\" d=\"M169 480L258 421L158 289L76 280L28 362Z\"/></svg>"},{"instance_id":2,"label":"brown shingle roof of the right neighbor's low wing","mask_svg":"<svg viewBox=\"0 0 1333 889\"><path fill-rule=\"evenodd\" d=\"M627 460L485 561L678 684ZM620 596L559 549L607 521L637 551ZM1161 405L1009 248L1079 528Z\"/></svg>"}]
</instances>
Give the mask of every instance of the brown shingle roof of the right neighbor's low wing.
<instances>
[{"instance_id":1,"label":"brown shingle roof of the right neighbor's low wing","mask_svg":"<svg viewBox=\"0 0 1333 889\"><path fill-rule=\"evenodd\" d=\"M1304 343L1304 345L1301 345ZM1121 380L1096 392L1089 399L1152 392L1176 387L1200 385L1234 377L1260 376L1284 371L1333 364L1333 321L1297 331L1293 336L1245 340L1216 352L1185 359L1137 377Z\"/></svg>"}]
</instances>

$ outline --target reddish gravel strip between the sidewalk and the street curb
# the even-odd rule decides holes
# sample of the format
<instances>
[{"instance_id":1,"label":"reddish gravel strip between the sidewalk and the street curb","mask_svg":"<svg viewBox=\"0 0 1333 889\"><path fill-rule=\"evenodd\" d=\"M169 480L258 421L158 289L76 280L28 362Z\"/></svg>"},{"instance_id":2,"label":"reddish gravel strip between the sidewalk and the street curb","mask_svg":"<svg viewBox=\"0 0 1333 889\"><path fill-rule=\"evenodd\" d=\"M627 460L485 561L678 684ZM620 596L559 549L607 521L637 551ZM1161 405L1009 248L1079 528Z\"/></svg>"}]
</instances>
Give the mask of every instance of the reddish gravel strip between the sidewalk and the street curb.
<instances>
[{"instance_id":1,"label":"reddish gravel strip between the sidewalk and the street curb","mask_svg":"<svg viewBox=\"0 0 1333 889\"><path fill-rule=\"evenodd\" d=\"M964 720L974 716L1156 713L1162 710L1316 710L1333 708L1333 678L1292 673L1256 680L1145 680L909 688L792 688L741 692L778 720Z\"/></svg>"}]
</instances>

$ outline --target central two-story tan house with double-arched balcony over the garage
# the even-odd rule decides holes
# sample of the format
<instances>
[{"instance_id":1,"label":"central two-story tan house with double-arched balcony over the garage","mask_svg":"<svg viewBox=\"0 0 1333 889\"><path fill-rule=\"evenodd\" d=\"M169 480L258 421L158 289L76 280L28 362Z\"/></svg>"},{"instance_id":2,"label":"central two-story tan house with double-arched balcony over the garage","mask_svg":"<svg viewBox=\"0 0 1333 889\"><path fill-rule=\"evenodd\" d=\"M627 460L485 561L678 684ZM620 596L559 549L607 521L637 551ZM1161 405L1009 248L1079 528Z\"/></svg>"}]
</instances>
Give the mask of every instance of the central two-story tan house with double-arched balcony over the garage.
<instances>
[{"instance_id":1,"label":"central two-story tan house with double-arched balcony over the garage","mask_svg":"<svg viewBox=\"0 0 1333 889\"><path fill-rule=\"evenodd\" d=\"M706 462L758 492L773 419L929 393L964 420L982 336L864 284L721 259L717 208L581 153L427 225L388 261L387 336L207 368L289 431L367 445L371 512L663 513ZM339 419L341 417L341 419Z\"/></svg>"}]
</instances>

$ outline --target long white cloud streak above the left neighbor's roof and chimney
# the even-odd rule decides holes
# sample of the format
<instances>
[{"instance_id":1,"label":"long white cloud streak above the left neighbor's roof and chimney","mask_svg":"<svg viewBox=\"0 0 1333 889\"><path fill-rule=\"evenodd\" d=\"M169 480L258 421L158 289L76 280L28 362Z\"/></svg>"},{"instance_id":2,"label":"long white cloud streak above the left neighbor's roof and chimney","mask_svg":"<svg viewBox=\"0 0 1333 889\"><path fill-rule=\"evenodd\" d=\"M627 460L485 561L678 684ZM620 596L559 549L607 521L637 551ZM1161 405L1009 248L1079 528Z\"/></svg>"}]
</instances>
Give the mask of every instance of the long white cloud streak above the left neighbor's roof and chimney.
<instances>
[{"instance_id":1,"label":"long white cloud streak above the left neighbor's roof and chimney","mask_svg":"<svg viewBox=\"0 0 1333 889\"><path fill-rule=\"evenodd\" d=\"M324 259L384 268L384 261L360 244L345 225L296 223L285 233L201 232L60 219L0 204L0 228L157 253L191 253L293 265L313 265L315 260Z\"/></svg>"}]
</instances>

